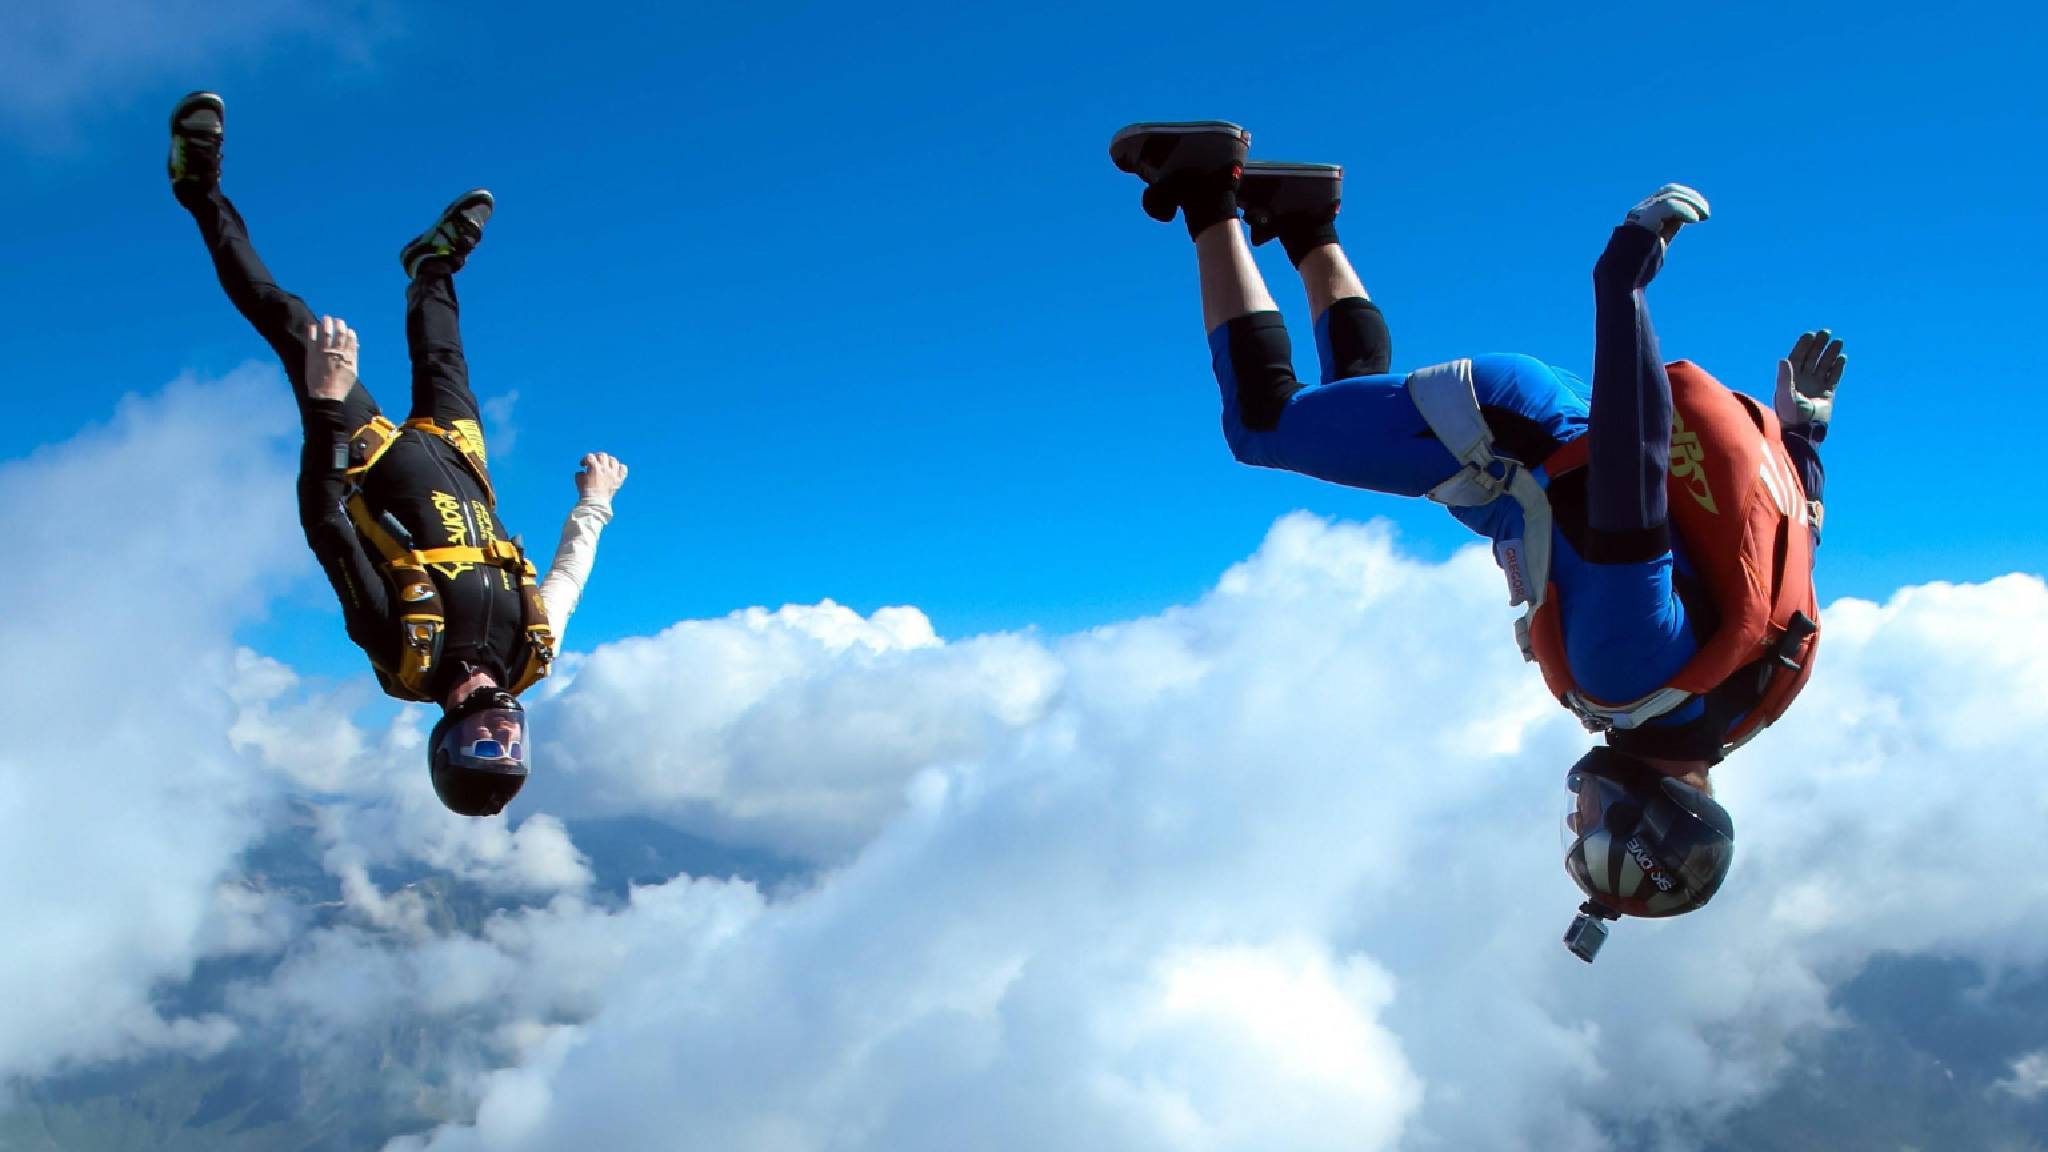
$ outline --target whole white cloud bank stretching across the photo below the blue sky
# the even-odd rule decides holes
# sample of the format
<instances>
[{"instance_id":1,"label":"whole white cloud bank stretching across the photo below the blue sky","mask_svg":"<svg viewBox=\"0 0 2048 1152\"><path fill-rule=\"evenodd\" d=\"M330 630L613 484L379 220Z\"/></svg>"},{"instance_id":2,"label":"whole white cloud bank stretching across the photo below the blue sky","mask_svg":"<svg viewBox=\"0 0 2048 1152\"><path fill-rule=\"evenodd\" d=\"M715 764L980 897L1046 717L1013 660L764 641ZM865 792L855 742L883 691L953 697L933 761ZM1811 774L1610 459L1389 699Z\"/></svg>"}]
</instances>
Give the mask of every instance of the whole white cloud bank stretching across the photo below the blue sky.
<instances>
[{"instance_id":1,"label":"whole white cloud bank stretching across the photo below the blue sky","mask_svg":"<svg viewBox=\"0 0 2048 1152\"><path fill-rule=\"evenodd\" d=\"M139 410L197 428L236 387ZM8 515L143 467L123 426L0 471ZM475 1039L463 1121L399 1150L1686 1148L1837 1025L1829 988L1872 955L2048 963L2048 875L2015 855L2048 814L2038 576L1829 605L1800 707L1716 773L1726 890L1622 924L1589 970L1559 945L1556 842L1585 738L1507 642L1481 549L1423 564L1384 525L1286 517L1198 603L1077 635L944 640L915 609L829 603L682 621L537 703L518 824L459 822L418 771L424 717L365 728L360 685L317 695L227 642L293 578L279 558L309 570L283 467L272 447L180 482L195 506L274 492L242 586L106 631L76 588L37 603L92 644L203 660L174 701L117 711L76 644L8 672L27 715L78 717L0 752L0 908L45 941L0 963L51 1002L0 1021L8 1074L440 1021ZM205 584L176 525L102 523ZM84 592L121 588L86 564L102 543L41 543L104 580ZM129 767L141 740L178 771ZM129 799L109 812L100 781ZM309 814L338 916L238 871L287 814ZM590 814L817 871L606 900L565 824ZM401 863L504 908L436 927L379 888ZM274 965L203 1019L152 1006L227 951Z\"/></svg>"}]
</instances>

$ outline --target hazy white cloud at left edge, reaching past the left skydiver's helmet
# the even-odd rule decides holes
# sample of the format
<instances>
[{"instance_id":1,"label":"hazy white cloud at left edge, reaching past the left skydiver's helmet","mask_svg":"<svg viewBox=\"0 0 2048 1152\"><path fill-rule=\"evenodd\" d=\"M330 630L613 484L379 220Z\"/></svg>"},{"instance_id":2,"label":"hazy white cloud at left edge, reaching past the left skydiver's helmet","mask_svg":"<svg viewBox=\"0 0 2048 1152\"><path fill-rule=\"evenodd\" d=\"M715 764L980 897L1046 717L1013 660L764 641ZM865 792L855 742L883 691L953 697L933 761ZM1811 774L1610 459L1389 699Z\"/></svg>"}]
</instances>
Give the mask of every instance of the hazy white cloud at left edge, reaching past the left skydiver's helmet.
<instances>
[{"instance_id":1,"label":"hazy white cloud at left edge, reaching past the left skydiver's helmet","mask_svg":"<svg viewBox=\"0 0 2048 1152\"><path fill-rule=\"evenodd\" d=\"M313 572L295 435L283 377L242 369L129 396L109 426L0 463L0 986L35 990L0 998L0 1080L225 1043L227 1019L166 1019L154 992L303 931L305 910L236 875L293 793L369 924L426 935L418 898L371 879L399 861L514 896L590 881L549 816L451 820L416 715L367 734L348 719L367 685L311 695L236 648Z\"/></svg>"}]
</instances>

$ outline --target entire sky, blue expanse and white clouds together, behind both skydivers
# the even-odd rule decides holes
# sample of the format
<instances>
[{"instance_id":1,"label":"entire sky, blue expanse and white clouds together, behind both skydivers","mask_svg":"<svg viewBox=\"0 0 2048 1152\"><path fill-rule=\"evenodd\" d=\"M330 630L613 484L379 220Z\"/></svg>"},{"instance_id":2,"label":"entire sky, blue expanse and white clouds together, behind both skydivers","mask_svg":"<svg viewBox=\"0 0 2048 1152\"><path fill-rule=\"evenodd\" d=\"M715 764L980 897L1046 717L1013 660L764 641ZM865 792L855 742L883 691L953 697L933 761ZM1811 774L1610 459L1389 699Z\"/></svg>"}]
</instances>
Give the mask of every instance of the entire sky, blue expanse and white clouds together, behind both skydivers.
<instances>
[{"instance_id":1,"label":"entire sky, blue expanse and white clouds together, behind both skydivers","mask_svg":"<svg viewBox=\"0 0 2048 1152\"><path fill-rule=\"evenodd\" d=\"M1679 1148L1794 1068L1886 1091L1806 1076L1880 1052L1837 996L1872 957L2048 970L2048 873L2005 859L2048 814L2034 8L0 6L0 986L39 990L0 1080L170 1125L199 1066L449 1072L393 1152ZM250 439L283 383L164 189L193 86L387 406L395 248L498 191L461 291L516 529L553 539L582 453L633 465L506 820L432 797L428 709L354 709L289 439ZM1583 371L1591 260L1665 180L1716 207L1655 289L1671 355L1765 389L1849 340L1829 654L1716 773L1710 910L1556 945L1587 738L1438 508L1229 459L1188 242L1104 156L1145 117L1348 164L1401 365ZM803 881L662 855L608 896L674 836ZM422 1029L449 1060L352 1056ZM2038 1127L2036 1045L1942 1099Z\"/></svg>"}]
</instances>

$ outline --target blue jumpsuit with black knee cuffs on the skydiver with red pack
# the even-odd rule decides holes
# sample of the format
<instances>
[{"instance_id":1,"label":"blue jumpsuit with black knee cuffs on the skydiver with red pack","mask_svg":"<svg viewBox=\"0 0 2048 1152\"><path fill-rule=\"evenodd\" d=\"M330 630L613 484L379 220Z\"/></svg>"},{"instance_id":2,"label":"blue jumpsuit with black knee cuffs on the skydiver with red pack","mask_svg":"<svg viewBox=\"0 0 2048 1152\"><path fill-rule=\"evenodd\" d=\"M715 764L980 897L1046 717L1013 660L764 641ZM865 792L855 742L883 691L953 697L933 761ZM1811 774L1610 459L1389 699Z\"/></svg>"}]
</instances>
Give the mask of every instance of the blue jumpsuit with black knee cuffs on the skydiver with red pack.
<instances>
[{"instance_id":1,"label":"blue jumpsuit with black knee cuffs on the skydiver with red pack","mask_svg":"<svg viewBox=\"0 0 2048 1152\"><path fill-rule=\"evenodd\" d=\"M1663 244L1653 232L1626 223L1614 230L1593 271L1591 389L1532 357L1473 357L1473 385L1497 453L1536 465L1559 445L1593 437L1583 500L1567 506L1552 488L1550 580L1571 672L1583 691L1608 701L1657 691L1702 640L1683 599L1690 564L1667 525L1671 381L1642 297L1661 262ZM1409 400L1407 377L1386 371L1391 342L1378 307L1343 299L1315 328L1323 369L1315 385L1294 379L1278 314L1243 316L1210 332L1231 453L1243 463L1399 496L1423 496L1456 474L1458 461ZM1788 433L1786 443L1808 496L1819 498L1812 443L1798 433ZM1493 541L1522 535L1522 508L1505 496L1450 512ZM1694 699L1653 724L1698 726L1702 711ZM1718 758L1718 736L1696 734L1653 752Z\"/></svg>"}]
</instances>

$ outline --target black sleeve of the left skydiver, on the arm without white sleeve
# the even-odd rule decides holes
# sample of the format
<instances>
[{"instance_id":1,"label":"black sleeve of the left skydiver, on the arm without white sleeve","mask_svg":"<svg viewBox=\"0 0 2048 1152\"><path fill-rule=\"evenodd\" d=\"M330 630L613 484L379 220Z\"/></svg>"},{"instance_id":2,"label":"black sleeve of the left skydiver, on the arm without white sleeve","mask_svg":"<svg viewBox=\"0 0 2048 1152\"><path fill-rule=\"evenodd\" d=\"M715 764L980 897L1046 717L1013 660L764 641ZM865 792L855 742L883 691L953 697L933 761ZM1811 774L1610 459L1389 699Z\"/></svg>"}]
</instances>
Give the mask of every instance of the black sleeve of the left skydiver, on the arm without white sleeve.
<instances>
[{"instance_id":1,"label":"black sleeve of the left skydiver, on the arm without white sleeve","mask_svg":"<svg viewBox=\"0 0 2048 1152\"><path fill-rule=\"evenodd\" d=\"M342 508L348 478L348 416L340 400L307 400L305 455L299 461L299 527L342 603L348 640L385 668L397 666L399 631L377 562Z\"/></svg>"}]
</instances>

